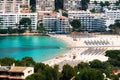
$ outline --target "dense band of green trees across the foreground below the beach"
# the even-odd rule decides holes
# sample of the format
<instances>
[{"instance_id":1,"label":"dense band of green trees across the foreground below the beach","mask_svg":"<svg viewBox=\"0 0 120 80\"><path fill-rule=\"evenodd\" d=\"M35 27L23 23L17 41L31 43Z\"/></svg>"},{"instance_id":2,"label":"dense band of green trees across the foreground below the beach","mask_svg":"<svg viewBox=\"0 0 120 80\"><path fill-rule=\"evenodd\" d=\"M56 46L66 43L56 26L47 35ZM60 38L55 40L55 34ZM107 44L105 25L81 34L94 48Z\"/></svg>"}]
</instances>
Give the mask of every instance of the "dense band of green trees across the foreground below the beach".
<instances>
[{"instance_id":1,"label":"dense band of green trees across the foreground below the beach","mask_svg":"<svg viewBox=\"0 0 120 80\"><path fill-rule=\"evenodd\" d=\"M43 63L36 63L31 57L25 57L22 60L13 58L1 58L2 66L10 66L15 63L16 66L33 66L35 73L28 76L26 80L104 80L110 78L119 80L120 74L113 75L113 70L120 69L120 50L111 50L106 52L108 61L101 62L94 60L89 63L81 62L75 67L66 64L62 71L59 66L50 67Z\"/></svg>"}]
</instances>

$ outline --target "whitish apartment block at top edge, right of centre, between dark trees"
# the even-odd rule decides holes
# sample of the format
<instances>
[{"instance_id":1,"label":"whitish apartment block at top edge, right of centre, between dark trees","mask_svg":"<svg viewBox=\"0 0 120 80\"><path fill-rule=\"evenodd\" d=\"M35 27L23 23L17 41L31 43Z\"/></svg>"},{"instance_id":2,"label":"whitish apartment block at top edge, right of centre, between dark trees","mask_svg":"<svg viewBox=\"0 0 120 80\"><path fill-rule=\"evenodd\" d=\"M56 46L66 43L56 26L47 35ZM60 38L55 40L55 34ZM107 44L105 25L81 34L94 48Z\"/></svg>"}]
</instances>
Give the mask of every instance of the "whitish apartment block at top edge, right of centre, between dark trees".
<instances>
[{"instance_id":1,"label":"whitish apartment block at top edge, right of centre, between dark trees","mask_svg":"<svg viewBox=\"0 0 120 80\"><path fill-rule=\"evenodd\" d=\"M80 10L81 0L63 0L64 10Z\"/></svg>"}]
</instances>

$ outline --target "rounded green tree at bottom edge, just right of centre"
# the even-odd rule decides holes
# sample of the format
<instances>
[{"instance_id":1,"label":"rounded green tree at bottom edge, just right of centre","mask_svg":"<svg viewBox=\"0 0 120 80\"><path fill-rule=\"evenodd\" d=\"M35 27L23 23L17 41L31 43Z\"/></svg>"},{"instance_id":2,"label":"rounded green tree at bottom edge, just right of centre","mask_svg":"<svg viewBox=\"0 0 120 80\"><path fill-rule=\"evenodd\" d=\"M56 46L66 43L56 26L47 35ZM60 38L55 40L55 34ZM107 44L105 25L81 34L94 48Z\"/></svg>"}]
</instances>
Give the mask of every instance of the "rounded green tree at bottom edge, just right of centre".
<instances>
[{"instance_id":1,"label":"rounded green tree at bottom edge, just right of centre","mask_svg":"<svg viewBox=\"0 0 120 80\"><path fill-rule=\"evenodd\" d=\"M62 80L70 80L75 76L75 70L70 65L64 65L62 70Z\"/></svg>"}]
</instances>

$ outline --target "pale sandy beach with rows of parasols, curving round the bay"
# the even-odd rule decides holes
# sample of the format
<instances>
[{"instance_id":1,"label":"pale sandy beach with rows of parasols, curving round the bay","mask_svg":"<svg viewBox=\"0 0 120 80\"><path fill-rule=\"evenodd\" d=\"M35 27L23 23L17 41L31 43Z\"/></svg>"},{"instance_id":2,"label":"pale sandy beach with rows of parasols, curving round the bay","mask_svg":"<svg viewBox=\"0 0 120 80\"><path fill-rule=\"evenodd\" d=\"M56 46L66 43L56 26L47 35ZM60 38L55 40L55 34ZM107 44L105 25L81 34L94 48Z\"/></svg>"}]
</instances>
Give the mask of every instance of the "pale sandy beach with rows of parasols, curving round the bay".
<instances>
[{"instance_id":1,"label":"pale sandy beach with rows of parasols, curving round the bay","mask_svg":"<svg viewBox=\"0 0 120 80\"><path fill-rule=\"evenodd\" d=\"M69 51L43 63L50 66L55 64L62 67L64 64L75 66L80 62L89 62L94 59L108 60L107 50L120 49L119 35L51 35L68 44Z\"/></svg>"}]
</instances>

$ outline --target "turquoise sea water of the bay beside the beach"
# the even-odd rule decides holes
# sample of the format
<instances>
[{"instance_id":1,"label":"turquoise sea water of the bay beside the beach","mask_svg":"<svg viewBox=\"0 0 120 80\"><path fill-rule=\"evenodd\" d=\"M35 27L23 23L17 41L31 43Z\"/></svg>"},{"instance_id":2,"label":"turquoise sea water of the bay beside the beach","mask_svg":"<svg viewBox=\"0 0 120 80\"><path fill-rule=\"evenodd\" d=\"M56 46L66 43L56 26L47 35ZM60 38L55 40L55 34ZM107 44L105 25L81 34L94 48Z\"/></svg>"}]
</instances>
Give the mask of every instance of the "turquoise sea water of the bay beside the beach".
<instances>
[{"instance_id":1,"label":"turquoise sea water of the bay beside the beach","mask_svg":"<svg viewBox=\"0 0 120 80\"><path fill-rule=\"evenodd\" d=\"M0 58L22 59L32 57L35 61L45 61L67 50L61 49L66 43L49 36L2 36L0 37Z\"/></svg>"}]
</instances>

